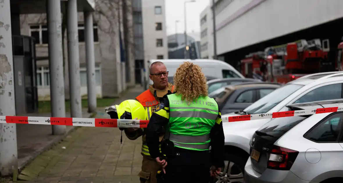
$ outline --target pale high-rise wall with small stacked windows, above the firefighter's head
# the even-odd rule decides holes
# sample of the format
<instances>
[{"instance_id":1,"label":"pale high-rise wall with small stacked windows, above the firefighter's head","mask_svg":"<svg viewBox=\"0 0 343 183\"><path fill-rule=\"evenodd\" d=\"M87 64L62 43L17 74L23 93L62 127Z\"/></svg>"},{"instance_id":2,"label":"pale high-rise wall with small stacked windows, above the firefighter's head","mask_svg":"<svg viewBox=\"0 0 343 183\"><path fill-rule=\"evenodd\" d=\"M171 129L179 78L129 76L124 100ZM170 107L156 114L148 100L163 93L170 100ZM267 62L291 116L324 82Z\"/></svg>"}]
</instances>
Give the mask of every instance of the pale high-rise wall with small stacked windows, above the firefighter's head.
<instances>
[{"instance_id":1,"label":"pale high-rise wall with small stacked windows, above the firefighter's head","mask_svg":"<svg viewBox=\"0 0 343 183\"><path fill-rule=\"evenodd\" d=\"M162 14L155 14L155 6L162 7ZM157 55L163 55L164 59L168 59L165 1L142 0L142 21L145 62L157 59ZM162 30L155 29L156 22L162 23ZM156 39L163 39L163 47L156 47Z\"/></svg>"}]
</instances>

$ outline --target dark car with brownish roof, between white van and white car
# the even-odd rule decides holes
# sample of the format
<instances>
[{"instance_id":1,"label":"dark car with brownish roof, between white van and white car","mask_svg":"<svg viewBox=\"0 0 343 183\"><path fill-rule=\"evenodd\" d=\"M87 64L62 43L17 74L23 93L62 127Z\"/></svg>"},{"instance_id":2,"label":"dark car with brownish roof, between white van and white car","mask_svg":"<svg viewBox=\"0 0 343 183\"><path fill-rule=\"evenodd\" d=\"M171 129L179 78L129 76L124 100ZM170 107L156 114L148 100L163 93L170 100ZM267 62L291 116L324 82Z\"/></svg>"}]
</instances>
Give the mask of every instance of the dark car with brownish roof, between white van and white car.
<instances>
[{"instance_id":1,"label":"dark car with brownish roof, between white van and white car","mask_svg":"<svg viewBox=\"0 0 343 183\"><path fill-rule=\"evenodd\" d=\"M278 83L265 82L243 82L234 85L224 86L215 95L209 95L214 98L222 114L243 110L255 101L268 95L281 85Z\"/></svg>"}]
</instances>

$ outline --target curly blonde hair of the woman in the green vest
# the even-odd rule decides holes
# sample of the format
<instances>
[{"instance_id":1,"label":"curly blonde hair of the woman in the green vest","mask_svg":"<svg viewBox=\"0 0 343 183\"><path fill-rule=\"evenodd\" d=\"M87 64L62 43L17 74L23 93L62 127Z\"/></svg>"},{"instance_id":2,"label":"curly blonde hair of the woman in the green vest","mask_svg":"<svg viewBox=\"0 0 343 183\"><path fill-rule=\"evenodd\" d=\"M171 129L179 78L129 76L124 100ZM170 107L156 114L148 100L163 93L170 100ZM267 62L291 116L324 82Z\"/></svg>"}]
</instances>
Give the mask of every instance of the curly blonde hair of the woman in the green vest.
<instances>
[{"instance_id":1,"label":"curly blonde hair of the woman in the green vest","mask_svg":"<svg viewBox=\"0 0 343 183\"><path fill-rule=\"evenodd\" d=\"M182 100L193 101L200 96L208 96L206 82L200 66L192 62L181 64L174 75L176 95L181 95Z\"/></svg>"}]
</instances>

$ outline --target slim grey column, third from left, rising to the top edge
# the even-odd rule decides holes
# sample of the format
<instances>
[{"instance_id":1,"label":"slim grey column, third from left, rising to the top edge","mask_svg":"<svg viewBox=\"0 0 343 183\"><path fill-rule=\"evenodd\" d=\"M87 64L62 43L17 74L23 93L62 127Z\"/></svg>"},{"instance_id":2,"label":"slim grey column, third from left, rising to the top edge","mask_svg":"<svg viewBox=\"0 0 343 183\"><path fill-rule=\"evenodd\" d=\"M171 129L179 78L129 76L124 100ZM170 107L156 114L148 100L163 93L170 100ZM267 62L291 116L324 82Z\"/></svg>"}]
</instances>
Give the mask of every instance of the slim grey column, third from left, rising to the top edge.
<instances>
[{"instance_id":1,"label":"slim grey column, third from left, rising to the top edge","mask_svg":"<svg viewBox=\"0 0 343 183\"><path fill-rule=\"evenodd\" d=\"M70 112L72 118L82 118L77 2L68 0L67 3Z\"/></svg>"}]
</instances>

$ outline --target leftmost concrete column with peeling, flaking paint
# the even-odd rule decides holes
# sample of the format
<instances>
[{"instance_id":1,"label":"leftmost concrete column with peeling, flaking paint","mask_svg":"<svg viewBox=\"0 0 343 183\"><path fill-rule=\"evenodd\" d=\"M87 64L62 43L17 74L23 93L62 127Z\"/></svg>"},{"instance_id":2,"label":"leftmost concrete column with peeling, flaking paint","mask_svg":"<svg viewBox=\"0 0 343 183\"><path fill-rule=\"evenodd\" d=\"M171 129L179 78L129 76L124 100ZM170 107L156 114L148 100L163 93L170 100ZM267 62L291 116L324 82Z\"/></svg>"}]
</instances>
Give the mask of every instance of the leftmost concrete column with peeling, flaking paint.
<instances>
[{"instance_id":1,"label":"leftmost concrete column with peeling, flaking paint","mask_svg":"<svg viewBox=\"0 0 343 183\"><path fill-rule=\"evenodd\" d=\"M0 1L0 116L15 115L11 29L10 1ZM0 175L13 173L12 168L18 169L16 124L0 123Z\"/></svg>"}]
</instances>

